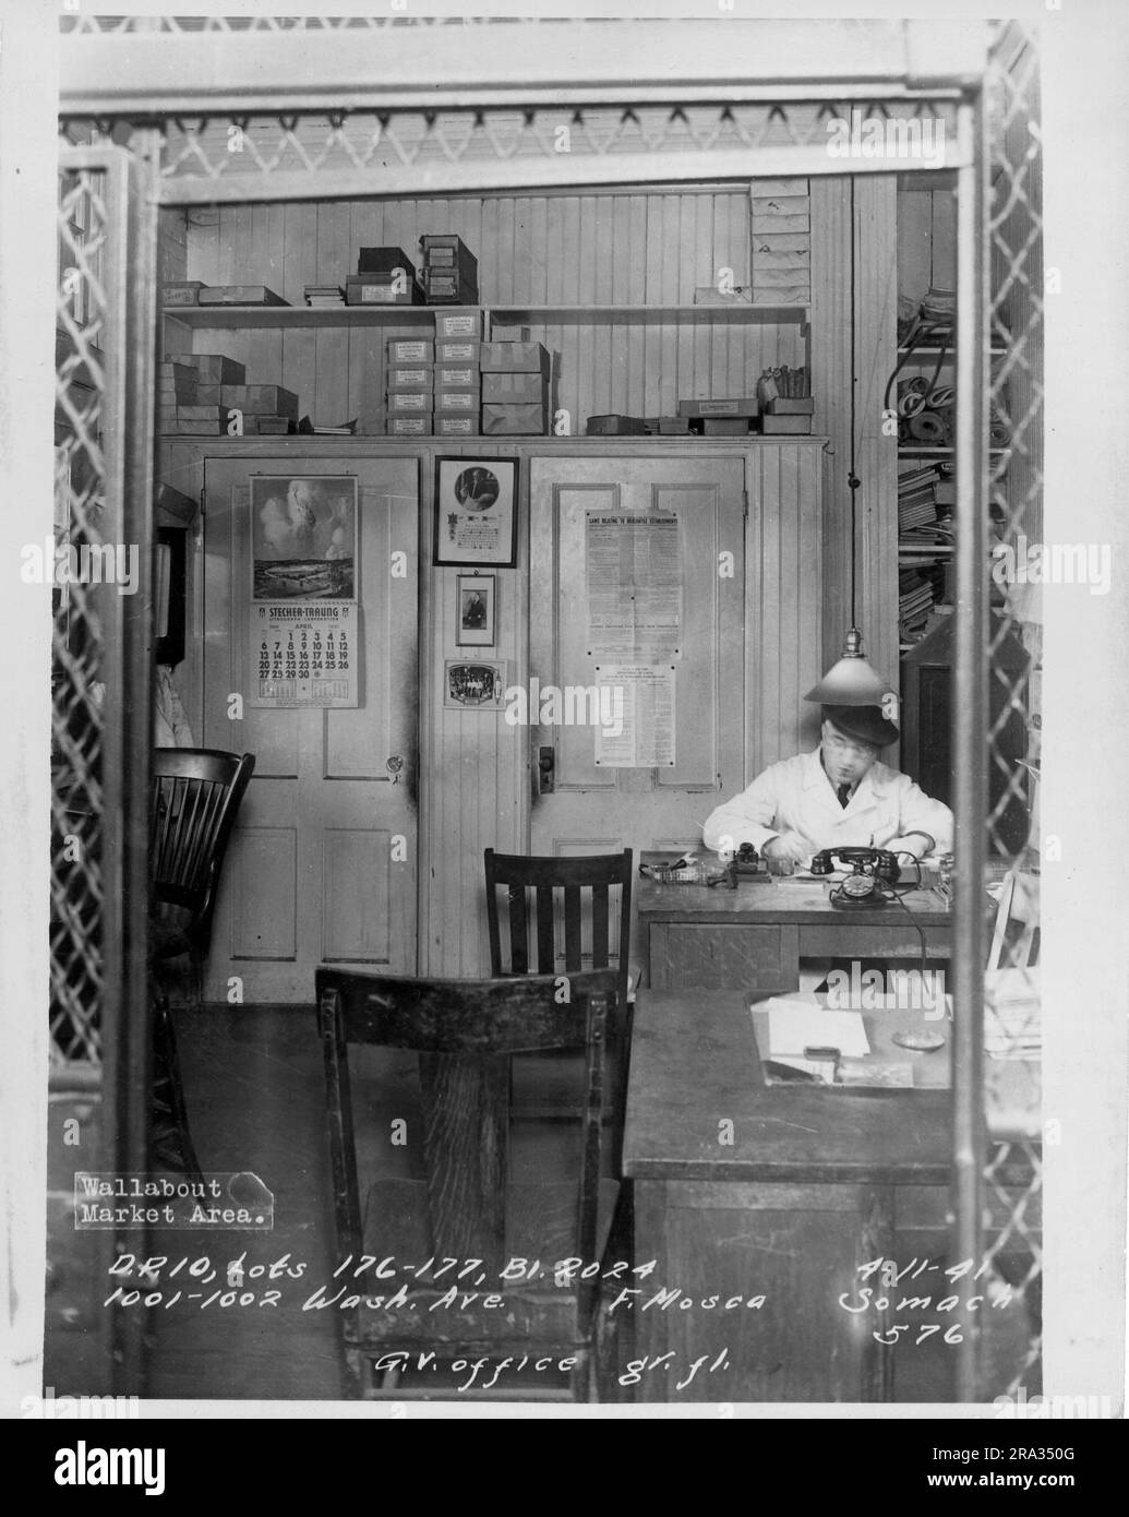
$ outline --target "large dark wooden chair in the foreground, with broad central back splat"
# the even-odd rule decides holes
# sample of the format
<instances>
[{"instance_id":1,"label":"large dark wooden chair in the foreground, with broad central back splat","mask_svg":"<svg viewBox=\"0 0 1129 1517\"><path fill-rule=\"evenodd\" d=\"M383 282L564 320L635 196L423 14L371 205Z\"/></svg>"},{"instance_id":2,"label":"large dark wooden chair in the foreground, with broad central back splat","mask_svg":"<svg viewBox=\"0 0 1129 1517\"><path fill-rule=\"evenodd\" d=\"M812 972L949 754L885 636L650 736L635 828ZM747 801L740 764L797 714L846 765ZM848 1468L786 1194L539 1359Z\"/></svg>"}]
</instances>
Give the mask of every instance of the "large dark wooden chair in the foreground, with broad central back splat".
<instances>
[{"instance_id":1,"label":"large dark wooden chair in the foreground, with broad central back splat","mask_svg":"<svg viewBox=\"0 0 1129 1517\"><path fill-rule=\"evenodd\" d=\"M321 968L315 983L336 1242L339 1262L349 1262L326 1294L341 1291L347 1393L591 1399L600 1282L594 1273L574 1271L558 1285L553 1265L603 1258L618 1194L614 1180L600 1179L615 974L574 975L564 1003L556 978L547 975L403 980ZM405 1113L408 1144L385 1150L386 1165L399 1156L417 1174L388 1177L385 1168L364 1212L350 1044L411 1050L420 1073L420 1115ZM579 1142L571 1162L561 1165L567 1176L547 1179L543 1165L523 1180L517 1164L511 1167L520 1153L517 1135L511 1142L509 1062L546 1048L583 1051ZM371 1267L362 1268L367 1256L392 1264L377 1277ZM502 1279L512 1259L539 1261L536 1277ZM344 1314L349 1296L358 1300ZM468 1365L480 1358L488 1364L459 1391ZM535 1368L538 1358L573 1364L550 1377ZM503 1359L512 1361L509 1374L499 1368ZM452 1371L459 1361L464 1370ZM438 1367L449 1373L446 1385Z\"/></svg>"}]
</instances>

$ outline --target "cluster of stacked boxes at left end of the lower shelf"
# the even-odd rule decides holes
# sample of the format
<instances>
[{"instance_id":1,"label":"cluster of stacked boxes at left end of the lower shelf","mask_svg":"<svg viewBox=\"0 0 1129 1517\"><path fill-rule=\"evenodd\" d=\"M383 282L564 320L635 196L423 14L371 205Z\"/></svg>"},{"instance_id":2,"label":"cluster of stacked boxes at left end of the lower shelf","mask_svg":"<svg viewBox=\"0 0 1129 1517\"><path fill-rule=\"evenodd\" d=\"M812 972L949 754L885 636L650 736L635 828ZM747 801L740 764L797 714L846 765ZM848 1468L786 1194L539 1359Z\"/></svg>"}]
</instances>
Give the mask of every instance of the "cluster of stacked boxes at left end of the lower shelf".
<instances>
[{"instance_id":1,"label":"cluster of stacked boxes at left end of the lower shelf","mask_svg":"<svg viewBox=\"0 0 1129 1517\"><path fill-rule=\"evenodd\" d=\"M161 364L159 422L164 432L264 437L289 432L299 397L277 384L247 384L247 370L223 353L177 353Z\"/></svg>"}]
</instances>

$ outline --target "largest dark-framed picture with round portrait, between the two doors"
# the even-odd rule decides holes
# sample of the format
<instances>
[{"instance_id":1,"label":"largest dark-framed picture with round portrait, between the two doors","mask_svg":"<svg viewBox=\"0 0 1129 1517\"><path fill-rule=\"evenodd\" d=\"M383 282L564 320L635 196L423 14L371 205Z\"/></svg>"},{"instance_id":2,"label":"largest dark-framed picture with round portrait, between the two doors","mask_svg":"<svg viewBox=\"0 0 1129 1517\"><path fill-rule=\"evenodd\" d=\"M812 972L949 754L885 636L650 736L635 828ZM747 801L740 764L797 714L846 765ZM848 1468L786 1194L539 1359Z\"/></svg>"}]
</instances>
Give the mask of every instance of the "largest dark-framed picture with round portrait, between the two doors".
<instances>
[{"instance_id":1,"label":"largest dark-framed picture with round portrait, between the two doors","mask_svg":"<svg viewBox=\"0 0 1129 1517\"><path fill-rule=\"evenodd\" d=\"M517 563L517 458L435 460L436 566Z\"/></svg>"}]
</instances>

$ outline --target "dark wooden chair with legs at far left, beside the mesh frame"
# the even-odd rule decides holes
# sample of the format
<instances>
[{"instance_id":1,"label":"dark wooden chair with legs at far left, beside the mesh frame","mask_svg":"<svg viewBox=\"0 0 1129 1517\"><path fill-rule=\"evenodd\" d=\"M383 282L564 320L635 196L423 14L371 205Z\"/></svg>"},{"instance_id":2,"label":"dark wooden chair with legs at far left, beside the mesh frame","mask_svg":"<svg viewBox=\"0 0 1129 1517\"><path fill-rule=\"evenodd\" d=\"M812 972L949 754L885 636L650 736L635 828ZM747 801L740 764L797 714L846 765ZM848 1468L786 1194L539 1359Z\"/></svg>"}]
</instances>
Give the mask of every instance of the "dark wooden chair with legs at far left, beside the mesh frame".
<instances>
[{"instance_id":1,"label":"dark wooden chair with legs at far left, beside the mesh frame","mask_svg":"<svg viewBox=\"0 0 1129 1517\"><path fill-rule=\"evenodd\" d=\"M150 1159L155 1168L200 1176L188 1130L180 1062L161 968L186 954L195 1004L212 912L235 813L255 769L253 754L211 748L155 748L150 795L149 956L153 1003Z\"/></svg>"}]
</instances>

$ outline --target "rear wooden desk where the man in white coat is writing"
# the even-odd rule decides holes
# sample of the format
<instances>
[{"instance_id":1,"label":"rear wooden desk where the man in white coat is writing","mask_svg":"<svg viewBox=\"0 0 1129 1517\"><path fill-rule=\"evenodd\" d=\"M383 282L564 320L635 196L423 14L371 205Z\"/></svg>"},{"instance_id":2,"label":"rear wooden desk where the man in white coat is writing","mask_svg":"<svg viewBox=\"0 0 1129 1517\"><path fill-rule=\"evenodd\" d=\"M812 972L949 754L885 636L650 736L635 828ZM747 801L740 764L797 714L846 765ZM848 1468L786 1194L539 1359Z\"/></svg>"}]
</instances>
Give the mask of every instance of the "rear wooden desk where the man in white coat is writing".
<instances>
[{"instance_id":1,"label":"rear wooden desk where the man in white coat is writing","mask_svg":"<svg viewBox=\"0 0 1129 1517\"><path fill-rule=\"evenodd\" d=\"M665 859L644 854L644 862ZM947 959L949 903L934 889L902 906L840 912L820 880L758 877L735 890L636 880L638 951L656 991L785 991L799 985L800 959Z\"/></svg>"}]
</instances>

